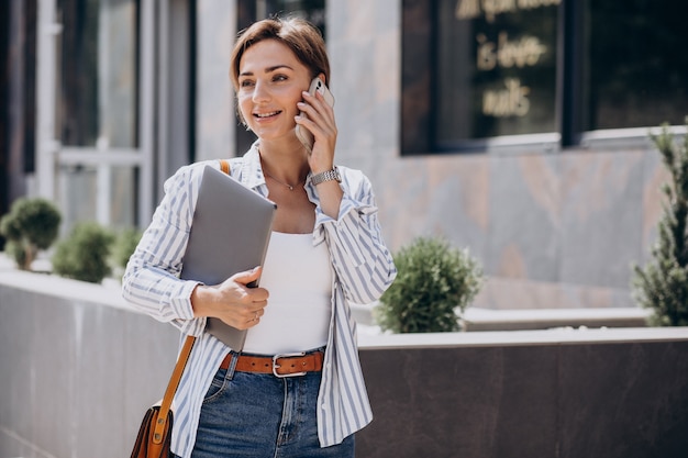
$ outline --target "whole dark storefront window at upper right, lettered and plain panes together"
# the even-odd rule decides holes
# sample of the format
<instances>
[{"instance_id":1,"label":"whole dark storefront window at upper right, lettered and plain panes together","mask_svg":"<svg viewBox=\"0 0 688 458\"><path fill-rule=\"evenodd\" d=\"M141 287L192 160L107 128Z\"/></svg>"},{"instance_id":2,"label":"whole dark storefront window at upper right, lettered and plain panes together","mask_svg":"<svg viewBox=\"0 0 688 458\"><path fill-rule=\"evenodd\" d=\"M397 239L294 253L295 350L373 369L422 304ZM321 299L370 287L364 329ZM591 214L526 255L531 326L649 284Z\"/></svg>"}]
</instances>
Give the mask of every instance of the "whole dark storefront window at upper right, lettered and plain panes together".
<instances>
[{"instance_id":1,"label":"whole dark storefront window at upper right, lettered and plain panes together","mask_svg":"<svg viewBox=\"0 0 688 458\"><path fill-rule=\"evenodd\" d=\"M509 142L568 147L589 131L683 125L688 27L680 7L403 0L402 153Z\"/></svg>"}]
</instances>

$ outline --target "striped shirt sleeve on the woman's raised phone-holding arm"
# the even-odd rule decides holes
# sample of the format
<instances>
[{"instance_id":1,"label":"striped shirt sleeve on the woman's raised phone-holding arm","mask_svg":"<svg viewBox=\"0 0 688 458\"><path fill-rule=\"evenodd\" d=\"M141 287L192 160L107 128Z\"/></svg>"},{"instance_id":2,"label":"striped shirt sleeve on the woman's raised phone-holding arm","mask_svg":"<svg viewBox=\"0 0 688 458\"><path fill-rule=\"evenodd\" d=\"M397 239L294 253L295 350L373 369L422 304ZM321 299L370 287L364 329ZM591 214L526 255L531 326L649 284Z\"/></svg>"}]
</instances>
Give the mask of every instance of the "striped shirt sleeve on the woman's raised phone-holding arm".
<instances>
[{"instance_id":1,"label":"striped shirt sleeve on the woman's raised phone-holding arm","mask_svg":"<svg viewBox=\"0 0 688 458\"><path fill-rule=\"evenodd\" d=\"M324 231L332 262L346 299L366 304L377 301L397 276L377 217L370 181L359 171L343 176L344 197L337 220L317 209L317 228Z\"/></svg>"}]
</instances>

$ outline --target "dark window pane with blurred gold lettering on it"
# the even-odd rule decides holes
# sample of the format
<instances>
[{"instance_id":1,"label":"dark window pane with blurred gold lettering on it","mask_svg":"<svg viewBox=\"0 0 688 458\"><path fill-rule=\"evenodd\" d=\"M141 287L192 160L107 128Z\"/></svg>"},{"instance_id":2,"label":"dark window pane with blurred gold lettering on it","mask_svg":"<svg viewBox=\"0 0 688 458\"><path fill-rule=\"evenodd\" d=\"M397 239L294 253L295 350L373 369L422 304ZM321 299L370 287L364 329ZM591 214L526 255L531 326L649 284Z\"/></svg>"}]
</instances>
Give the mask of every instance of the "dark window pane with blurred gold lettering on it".
<instances>
[{"instance_id":1,"label":"dark window pane with blurred gold lettering on it","mask_svg":"<svg viewBox=\"0 0 688 458\"><path fill-rule=\"evenodd\" d=\"M558 0L441 0L436 146L556 131Z\"/></svg>"}]
</instances>

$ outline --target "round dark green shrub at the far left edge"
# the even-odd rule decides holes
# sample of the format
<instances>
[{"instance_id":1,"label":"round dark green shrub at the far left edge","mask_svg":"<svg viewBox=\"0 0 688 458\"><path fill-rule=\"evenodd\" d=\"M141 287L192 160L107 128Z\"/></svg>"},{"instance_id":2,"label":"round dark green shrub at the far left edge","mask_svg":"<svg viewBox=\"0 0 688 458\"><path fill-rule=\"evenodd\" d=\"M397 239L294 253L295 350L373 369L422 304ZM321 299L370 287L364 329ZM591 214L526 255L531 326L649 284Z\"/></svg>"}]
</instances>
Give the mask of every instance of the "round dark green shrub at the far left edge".
<instances>
[{"instance_id":1,"label":"round dark green shrub at the far left edge","mask_svg":"<svg viewBox=\"0 0 688 458\"><path fill-rule=\"evenodd\" d=\"M62 214L53 202L42 198L21 198L0 220L0 234L7 238L5 250L23 270L42 249L57 238Z\"/></svg>"}]
</instances>

